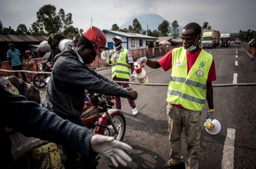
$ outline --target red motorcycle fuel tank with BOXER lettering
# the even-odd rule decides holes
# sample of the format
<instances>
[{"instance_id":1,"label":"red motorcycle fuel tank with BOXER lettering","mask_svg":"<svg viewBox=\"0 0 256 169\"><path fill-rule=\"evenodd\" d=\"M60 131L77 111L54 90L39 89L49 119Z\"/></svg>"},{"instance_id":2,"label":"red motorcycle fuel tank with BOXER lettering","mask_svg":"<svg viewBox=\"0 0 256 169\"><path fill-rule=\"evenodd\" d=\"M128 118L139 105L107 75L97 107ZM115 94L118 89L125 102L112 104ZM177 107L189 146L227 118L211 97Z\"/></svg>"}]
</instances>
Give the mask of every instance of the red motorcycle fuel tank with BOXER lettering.
<instances>
[{"instance_id":1,"label":"red motorcycle fuel tank with BOXER lettering","mask_svg":"<svg viewBox=\"0 0 256 169\"><path fill-rule=\"evenodd\" d=\"M86 126L90 126L95 123L100 117L100 111L95 106L95 104L91 102L85 102L85 106L83 106L83 113L80 118L85 123Z\"/></svg>"}]
</instances>

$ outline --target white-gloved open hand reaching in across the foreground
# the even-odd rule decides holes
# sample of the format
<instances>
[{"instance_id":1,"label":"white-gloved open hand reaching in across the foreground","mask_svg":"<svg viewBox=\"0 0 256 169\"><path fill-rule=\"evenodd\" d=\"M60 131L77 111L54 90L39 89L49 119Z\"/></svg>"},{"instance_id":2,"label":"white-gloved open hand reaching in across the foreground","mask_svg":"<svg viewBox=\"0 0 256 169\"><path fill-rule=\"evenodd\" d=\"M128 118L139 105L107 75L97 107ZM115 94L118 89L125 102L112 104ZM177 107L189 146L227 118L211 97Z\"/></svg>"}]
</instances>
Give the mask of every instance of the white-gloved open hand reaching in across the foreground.
<instances>
[{"instance_id":1,"label":"white-gloved open hand reaching in across the foreground","mask_svg":"<svg viewBox=\"0 0 256 169\"><path fill-rule=\"evenodd\" d=\"M118 167L118 162L123 166L127 166L127 162L132 162L132 158L124 150L132 150L133 148L126 143L115 140L114 137L93 135L90 140L90 147L96 153L108 157L115 167Z\"/></svg>"}]
</instances>

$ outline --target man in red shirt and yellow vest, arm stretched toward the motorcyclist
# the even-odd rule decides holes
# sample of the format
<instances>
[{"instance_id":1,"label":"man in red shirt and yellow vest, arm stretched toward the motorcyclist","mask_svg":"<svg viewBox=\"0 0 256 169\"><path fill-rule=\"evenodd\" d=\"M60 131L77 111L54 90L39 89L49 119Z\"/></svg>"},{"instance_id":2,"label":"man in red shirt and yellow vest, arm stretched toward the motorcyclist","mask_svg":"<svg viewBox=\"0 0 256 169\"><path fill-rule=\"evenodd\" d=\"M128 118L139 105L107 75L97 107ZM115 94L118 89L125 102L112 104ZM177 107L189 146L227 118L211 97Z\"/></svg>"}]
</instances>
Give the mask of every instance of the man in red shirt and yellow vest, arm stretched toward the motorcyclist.
<instances>
[{"instance_id":1,"label":"man in red shirt and yellow vest, arm stretched toward the motorcyclist","mask_svg":"<svg viewBox=\"0 0 256 169\"><path fill-rule=\"evenodd\" d=\"M164 169L171 169L182 161L181 133L184 127L187 154L186 169L198 169L198 156L201 137L201 111L205 100L209 110L206 119L214 119L212 81L216 80L213 56L199 47L201 27L197 23L186 25L181 34L183 47L174 48L158 61L146 57L137 62L150 68L162 67L171 70L167 92L167 115L169 119L170 160Z\"/></svg>"}]
</instances>

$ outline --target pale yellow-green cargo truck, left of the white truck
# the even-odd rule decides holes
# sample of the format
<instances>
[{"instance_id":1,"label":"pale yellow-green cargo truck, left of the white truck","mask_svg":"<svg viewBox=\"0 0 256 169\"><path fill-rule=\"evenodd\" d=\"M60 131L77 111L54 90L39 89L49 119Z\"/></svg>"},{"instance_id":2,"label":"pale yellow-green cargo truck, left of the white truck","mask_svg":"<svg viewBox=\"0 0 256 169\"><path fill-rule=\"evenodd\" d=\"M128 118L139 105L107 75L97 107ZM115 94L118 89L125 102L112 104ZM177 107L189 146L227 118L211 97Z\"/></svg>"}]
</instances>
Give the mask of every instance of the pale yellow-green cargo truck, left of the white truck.
<instances>
[{"instance_id":1,"label":"pale yellow-green cargo truck, left of the white truck","mask_svg":"<svg viewBox=\"0 0 256 169\"><path fill-rule=\"evenodd\" d=\"M202 31L202 48L215 48L219 46L220 31L207 29Z\"/></svg>"}]
</instances>

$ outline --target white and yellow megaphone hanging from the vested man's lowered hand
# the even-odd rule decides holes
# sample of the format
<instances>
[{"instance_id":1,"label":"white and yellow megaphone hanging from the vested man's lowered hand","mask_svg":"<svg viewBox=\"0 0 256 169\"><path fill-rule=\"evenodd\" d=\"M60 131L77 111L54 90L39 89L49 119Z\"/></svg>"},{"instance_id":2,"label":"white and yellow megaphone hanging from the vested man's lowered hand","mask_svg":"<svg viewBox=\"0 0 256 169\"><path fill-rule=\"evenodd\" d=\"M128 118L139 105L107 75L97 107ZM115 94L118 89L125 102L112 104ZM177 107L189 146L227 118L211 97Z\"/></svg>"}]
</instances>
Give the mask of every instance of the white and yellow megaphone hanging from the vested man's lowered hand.
<instances>
[{"instance_id":1,"label":"white and yellow megaphone hanging from the vested man's lowered hand","mask_svg":"<svg viewBox=\"0 0 256 169\"><path fill-rule=\"evenodd\" d=\"M222 125L217 119L211 120L210 118L204 123L204 130L210 135L217 135L221 132Z\"/></svg>"}]
</instances>

